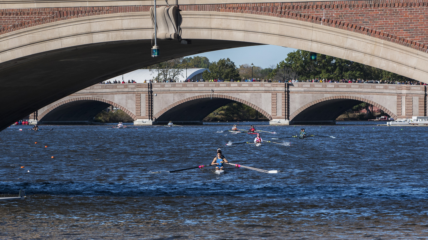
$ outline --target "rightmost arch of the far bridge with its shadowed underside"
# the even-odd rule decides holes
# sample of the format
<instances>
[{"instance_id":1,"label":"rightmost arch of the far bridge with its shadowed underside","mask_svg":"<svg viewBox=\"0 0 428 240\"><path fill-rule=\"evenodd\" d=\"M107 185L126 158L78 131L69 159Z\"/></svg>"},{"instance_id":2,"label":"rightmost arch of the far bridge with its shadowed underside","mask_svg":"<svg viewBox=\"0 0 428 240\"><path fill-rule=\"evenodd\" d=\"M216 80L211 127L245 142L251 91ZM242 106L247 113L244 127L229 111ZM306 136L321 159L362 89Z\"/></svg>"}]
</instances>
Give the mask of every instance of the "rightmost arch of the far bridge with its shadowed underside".
<instances>
[{"instance_id":1,"label":"rightmost arch of the far bridge with its shadowed underside","mask_svg":"<svg viewBox=\"0 0 428 240\"><path fill-rule=\"evenodd\" d=\"M334 121L346 110L361 102L372 104L392 118L397 119L394 113L374 101L357 96L340 95L320 98L305 104L290 115L290 121L295 124L311 123L313 121Z\"/></svg>"}]
</instances>

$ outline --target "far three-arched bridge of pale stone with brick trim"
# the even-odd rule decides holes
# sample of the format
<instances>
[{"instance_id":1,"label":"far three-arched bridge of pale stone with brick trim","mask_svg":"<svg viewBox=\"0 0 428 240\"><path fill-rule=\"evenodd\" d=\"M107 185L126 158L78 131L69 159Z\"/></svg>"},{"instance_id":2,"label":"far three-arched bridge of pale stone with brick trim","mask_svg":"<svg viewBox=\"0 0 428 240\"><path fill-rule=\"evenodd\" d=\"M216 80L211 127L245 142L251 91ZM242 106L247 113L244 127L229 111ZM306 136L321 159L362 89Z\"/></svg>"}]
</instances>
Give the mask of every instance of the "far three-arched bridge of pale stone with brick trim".
<instances>
[{"instance_id":1,"label":"far three-arched bridge of pale stone with brick trim","mask_svg":"<svg viewBox=\"0 0 428 240\"><path fill-rule=\"evenodd\" d=\"M62 98L30 117L42 124L87 123L113 105L134 124L202 124L202 119L232 101L258 110L270 124L335 124L361 102L389 116L426 116L424 85L346 83L198 82L97 84Z\"/></svg>"}]
</instances>

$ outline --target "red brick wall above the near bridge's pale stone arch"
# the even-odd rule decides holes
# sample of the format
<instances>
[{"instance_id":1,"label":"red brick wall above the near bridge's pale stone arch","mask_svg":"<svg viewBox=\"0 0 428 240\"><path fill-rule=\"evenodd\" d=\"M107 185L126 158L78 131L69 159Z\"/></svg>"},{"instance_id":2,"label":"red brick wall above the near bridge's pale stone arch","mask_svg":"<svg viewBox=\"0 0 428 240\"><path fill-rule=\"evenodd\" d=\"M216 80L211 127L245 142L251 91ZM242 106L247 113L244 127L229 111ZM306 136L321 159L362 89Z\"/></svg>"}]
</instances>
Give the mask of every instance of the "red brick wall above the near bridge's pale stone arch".
<instances>
[{"instance_id":1,"label":"red brick wall above the near bridge's pale stone arch","mask_svg":"<svg viewBox=\"0 0 428 240\"><path fill-rule=\"evenodd\" d=\"M178 7L183 11L237 12L309 21L428 52L427 0L199 4ZM148 12L149 9L150 6L0 9L0 35L77 17Z\"/></svg>"}]
</instances>

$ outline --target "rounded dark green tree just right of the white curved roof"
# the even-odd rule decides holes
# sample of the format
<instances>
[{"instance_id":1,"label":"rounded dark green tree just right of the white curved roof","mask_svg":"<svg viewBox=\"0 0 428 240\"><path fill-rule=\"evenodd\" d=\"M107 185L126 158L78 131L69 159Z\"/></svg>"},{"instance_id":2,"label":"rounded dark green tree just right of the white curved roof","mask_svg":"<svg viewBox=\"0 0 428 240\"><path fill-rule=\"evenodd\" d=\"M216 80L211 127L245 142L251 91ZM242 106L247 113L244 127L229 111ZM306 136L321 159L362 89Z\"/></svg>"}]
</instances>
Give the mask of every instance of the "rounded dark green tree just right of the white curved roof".
<instances>
[{"instance_id":1,"label":"rounded dark green tree just right of the white curved roof","mask_svg":"<svg viewBox=\"0 0 428 240\"><path fill-rule=\"evenodd\" d=\"M231 79L239 79L239 72L236 69L235 63L229 58L222 58L217 62L213 62L210 65L209 70L210 72L205 71L202 73L203 79L221 79L227 81L230 81Z\"/></svg>"}]
</instances>

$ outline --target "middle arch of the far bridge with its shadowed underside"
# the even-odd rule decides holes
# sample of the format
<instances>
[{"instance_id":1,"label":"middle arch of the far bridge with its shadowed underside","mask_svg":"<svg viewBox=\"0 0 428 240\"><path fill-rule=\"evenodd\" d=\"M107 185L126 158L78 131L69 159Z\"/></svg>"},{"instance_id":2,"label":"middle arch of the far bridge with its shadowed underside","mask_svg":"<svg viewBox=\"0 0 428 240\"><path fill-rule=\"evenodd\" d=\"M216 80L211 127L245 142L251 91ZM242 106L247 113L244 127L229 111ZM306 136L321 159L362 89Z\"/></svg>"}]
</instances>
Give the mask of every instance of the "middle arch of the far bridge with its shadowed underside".
<instances>
[{"instance_id":1,"label":"middle arch of the far bridge with its shadowed underside","mask_svg":"<svg viewBox=\"0 0 428 240\"><path fill-rule=\"evenodd\" d=\"M202 121L208 114L232 101L237 101L254 108L263 116L272 120L272 116L261 107L230 95L202 94L181 99L163 108L154 115L156 121Z\"/></svg>"}]
</instances>

